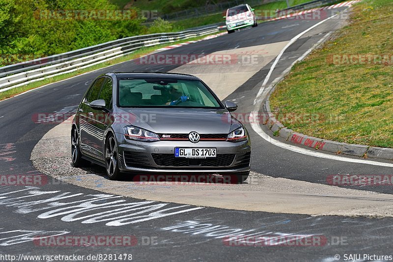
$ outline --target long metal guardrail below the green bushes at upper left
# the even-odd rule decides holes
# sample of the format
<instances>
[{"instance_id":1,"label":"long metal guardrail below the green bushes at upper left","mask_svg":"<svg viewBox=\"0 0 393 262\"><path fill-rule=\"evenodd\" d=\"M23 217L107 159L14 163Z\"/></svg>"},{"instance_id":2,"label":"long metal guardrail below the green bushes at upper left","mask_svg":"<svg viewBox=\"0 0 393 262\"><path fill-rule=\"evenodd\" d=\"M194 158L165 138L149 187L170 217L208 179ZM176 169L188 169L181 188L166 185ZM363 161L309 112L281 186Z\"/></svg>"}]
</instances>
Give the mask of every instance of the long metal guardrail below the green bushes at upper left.
<instances>
[{"instance_id":1,"label":"long metal guardrail below the green bushes at upper left","mask_svg":"<svg viewBox=\"0 0 393 262\"><path fill-rule=\"evenodd\" d=\"M155 46L218 32L207 26L173 33L156 33L126 37L71 52L0 67L0 92L61 74L83 69L109 59L134 52L141 47Z\"/></svg>"}]
</instances>

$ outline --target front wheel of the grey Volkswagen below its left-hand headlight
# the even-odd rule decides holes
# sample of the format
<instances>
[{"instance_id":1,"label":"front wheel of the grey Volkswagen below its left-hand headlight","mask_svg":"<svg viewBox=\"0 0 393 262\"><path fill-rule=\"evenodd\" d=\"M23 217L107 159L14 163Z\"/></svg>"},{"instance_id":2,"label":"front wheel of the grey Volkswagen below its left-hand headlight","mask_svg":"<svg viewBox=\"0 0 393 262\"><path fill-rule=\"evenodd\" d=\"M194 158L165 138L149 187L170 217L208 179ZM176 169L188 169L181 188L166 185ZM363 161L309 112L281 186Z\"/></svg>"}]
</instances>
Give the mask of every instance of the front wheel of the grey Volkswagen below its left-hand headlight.
<instances>
[{"instance_id":1,"label":"front wheel of the grey Volkswagen below its left-hand headlight","mask_svg":"<svg viewBox=\"0 0 393 262\"><path fill-rule=\"evenodd\" d=\"M112 134L105 142L105 169L110 180L119 180L121 177L118 165L118 151L116 139Z\"/></svg>"}]
</instances>

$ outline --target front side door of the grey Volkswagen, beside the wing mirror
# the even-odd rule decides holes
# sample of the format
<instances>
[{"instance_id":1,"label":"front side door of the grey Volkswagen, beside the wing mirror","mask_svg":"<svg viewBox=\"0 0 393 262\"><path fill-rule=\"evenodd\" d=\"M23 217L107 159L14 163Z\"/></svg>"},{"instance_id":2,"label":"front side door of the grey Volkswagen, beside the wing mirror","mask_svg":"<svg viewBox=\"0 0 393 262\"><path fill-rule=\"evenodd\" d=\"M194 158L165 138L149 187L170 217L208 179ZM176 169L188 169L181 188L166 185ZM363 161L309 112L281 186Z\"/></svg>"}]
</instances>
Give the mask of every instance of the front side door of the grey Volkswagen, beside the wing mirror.
<instances>
[{"instance_id":1,"label":"front side door of the grey Volkswagen, beside the wing mirror","mask_svg":"<svg viewBox=\"0 0 393 262\"><path fill-rule=\"evenodd\" d=\"M87 112L91 115L91 123L89 125L90 139L94 145L93 152L96 158L104 160L104 133L107 129L107 117L112 111L112 79L105 77L104 84L98 99L105 100L106 110L96 110L90 107Z\"/></svg>"}]
</instances>

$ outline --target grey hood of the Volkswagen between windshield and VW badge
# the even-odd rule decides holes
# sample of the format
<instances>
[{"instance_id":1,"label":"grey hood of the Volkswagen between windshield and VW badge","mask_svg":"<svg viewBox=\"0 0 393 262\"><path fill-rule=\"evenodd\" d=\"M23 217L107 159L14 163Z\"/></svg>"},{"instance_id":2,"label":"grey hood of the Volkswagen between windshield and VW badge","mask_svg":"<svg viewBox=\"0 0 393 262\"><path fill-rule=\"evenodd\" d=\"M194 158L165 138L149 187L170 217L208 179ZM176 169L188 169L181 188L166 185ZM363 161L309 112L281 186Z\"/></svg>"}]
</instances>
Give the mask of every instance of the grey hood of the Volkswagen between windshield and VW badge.
<instances>
[{"instance_id":1,"label":"grey hood of the Volkswagen between windshield and VW badge","mask_svg":"<svg viewBox=\"0 0 393 262\"><path fill-rule=\"evenodd\" d=\"M242 126L226 109L117 108L116 114L155 133L229 133Z\"/></svg>"}]
</instances>

